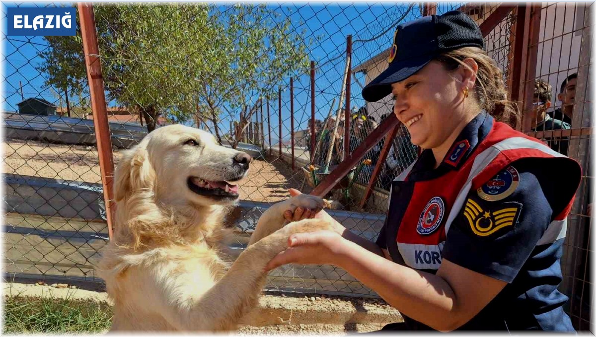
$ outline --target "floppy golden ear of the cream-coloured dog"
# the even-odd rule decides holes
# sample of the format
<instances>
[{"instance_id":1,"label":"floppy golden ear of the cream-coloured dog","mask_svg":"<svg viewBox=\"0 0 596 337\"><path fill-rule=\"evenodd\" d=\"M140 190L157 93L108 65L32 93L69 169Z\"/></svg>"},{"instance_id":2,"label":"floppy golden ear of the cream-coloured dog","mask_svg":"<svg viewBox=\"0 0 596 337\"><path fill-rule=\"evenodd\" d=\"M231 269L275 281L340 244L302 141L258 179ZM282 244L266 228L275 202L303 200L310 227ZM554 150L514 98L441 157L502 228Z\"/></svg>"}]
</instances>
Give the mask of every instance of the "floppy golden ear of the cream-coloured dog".
<instances>
[{"instance_id":1,"label":"floppy golden ear of the cream-coloured dog","mask_svg":"<svg viewBox=\"0 0 596 337\"><path fill-rule=\"evenodd\" d=\"M114 174L114 199L120 201L139 190L153 190L155 171L144 147L126 151Z\"/></svg>"}]
</instances>

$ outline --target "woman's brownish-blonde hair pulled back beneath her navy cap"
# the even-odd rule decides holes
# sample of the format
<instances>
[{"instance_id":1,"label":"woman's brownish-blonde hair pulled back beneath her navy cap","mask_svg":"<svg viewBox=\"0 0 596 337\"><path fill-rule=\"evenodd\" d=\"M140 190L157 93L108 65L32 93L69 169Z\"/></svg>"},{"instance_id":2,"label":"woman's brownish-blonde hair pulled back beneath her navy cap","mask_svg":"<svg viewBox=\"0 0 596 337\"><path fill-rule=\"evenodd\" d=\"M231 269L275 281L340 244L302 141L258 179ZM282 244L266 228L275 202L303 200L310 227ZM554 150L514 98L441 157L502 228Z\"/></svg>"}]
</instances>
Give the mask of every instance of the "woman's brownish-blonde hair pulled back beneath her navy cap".
<instances>
[{"instance_id":1,"label":"woman's brownish-blonde hair pulled back beneath her navy cap","mask_svg":"<svg viewBox=\"0 0 596 337\"><path fill-rule=\"evenodd\" d=\"M443 63L445 68L453 70L463 63L465 58L472 58L478 64L476 83L471 93L479 102L480 108L487 111L497 121L516 127L520 122L520 112L517 104L508 97L507 88L503 80L503 73L495 60L478 47L463 47L446 52L436 60Z\"/></svg>"}]
</instances>

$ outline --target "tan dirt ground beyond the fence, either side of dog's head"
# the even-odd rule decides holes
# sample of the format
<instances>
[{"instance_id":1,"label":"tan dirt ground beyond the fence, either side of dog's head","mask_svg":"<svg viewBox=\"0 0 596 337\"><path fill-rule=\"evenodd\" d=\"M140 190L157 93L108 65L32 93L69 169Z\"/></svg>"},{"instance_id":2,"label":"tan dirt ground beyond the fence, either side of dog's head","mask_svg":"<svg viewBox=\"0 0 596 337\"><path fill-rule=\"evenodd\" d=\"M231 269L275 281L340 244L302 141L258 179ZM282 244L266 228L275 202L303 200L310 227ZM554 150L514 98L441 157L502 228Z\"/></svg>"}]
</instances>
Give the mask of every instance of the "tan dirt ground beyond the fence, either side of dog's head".
<instances>
[{"instance_id":1,"label":"tan dirt ground beyond the fence, either side of dog's head","mask_svg":"<svg viewBox=\"0 0 596 337\"><path fill-rule=\"evenodd\" d=\"M3 173L101 183L97 149L91 146L48 144L8 139L2 143ZM121 150L114 151L114 165ZM288 188L300 188L302 173L292 173L288 165L275 157L256 158L249 175L240 182L240 198L275 202L287 198ZM310 191L305 184L303 192Z\"/></svg>"}]
</instances>

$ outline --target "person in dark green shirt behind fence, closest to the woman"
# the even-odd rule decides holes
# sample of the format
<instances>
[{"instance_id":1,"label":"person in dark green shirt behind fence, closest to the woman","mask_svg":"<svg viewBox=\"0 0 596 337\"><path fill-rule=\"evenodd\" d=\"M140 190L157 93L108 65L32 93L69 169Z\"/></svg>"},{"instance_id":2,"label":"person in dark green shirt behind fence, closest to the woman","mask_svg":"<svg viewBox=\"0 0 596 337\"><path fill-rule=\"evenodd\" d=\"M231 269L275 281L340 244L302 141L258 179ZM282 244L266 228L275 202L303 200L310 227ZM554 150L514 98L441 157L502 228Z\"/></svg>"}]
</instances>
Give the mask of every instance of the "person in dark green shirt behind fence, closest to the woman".
<instances>
[{"instance_id":1,"label":"person in dark green shirt behind fence, closest to the woman","mask_svg":"<svg viewBox=\"0 0 596 337\"><path fill-rule=\"evenodd\" d=\"M551 107L551 98L551 85L545 80L536 80L534 82L534 104L532 110L529 111L532 131L571 129L568 123L552 118L547 114L548 108ZM567 146L569 145L568 136L552 135L542 138L542 141L547 143L551 149L554 149L560 154L567 155Z\"/></svg>"}]
</instances>

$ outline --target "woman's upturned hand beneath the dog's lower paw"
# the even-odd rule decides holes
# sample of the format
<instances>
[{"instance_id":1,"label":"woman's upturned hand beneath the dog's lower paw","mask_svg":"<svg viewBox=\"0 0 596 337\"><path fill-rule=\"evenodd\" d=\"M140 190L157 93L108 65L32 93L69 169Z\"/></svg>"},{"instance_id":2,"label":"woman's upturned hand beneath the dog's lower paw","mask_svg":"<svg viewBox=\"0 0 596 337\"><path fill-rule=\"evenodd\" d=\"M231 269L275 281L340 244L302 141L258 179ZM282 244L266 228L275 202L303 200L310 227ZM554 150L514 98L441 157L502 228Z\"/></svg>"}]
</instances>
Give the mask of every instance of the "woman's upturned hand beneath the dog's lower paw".
<instances>
[{"instance_id":1,"label":"woman's upturned hand beneath the dog's lower paw","mask_svg":"<svg viewBox=\"0 0 596 337\"><path fill-rule=\"evenodd\" d=\"M288 248L269 261L265 271L288 263L337 265L346 243L346 239L330 230L293 234L288 239Z\"/></svg>"}]
</instances>

